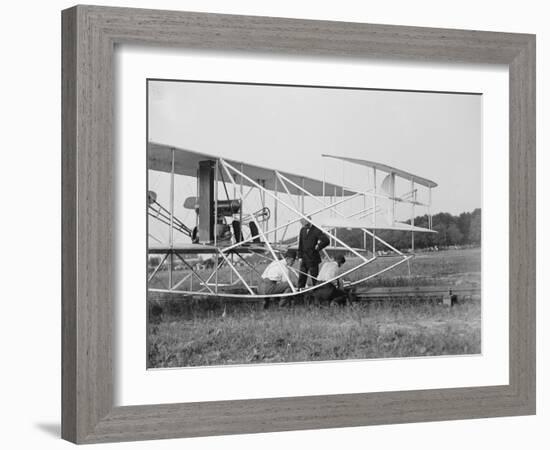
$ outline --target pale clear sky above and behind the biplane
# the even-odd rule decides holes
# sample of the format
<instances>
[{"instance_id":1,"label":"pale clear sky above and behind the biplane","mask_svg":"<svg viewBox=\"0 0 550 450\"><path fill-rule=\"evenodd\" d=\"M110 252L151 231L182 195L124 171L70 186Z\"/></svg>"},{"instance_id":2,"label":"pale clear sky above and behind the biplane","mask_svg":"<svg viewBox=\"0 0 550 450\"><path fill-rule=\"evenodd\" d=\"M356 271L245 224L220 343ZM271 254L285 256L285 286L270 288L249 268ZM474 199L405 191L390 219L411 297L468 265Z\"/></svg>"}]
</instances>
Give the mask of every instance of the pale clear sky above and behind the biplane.
<instances>
[{"instance_id":1,"label":"pale clear sky above and behind the biplane","mask_svg":"<svg viewBox=\"0 0 550 450\"><path fill-rule=\"evenodd\" d=\"M481 95L188 81L148 88L150 141L317 179L326 171L340 184L341 166L321 154L363 158L435 181L432 213L481 207ZM353 187L359 172L346 171ZM194 181L179 178L176 192L191 195ZM150 172L149 187L166 201L169 177ZM182 202L176 215L185 221L194 213Z\"/></svg>"}]
</instances>

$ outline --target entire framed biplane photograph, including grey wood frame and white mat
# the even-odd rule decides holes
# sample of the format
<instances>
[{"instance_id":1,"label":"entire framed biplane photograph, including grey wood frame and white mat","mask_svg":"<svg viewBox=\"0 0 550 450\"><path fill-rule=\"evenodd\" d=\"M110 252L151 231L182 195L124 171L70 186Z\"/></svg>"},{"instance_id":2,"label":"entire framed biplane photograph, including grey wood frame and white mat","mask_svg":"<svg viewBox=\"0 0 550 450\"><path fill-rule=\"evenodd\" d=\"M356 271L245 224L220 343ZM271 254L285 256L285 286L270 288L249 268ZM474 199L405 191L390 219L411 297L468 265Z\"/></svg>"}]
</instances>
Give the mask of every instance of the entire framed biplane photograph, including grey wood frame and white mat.
<instances>
[{"instance_id":1,"label":"entire framed biplane photograph, including grey wood frame and white mat","mask_svg":"<svg viewBox=\"0 0 550 450\"><path fill-rule=\"evenodd\" d=\"M62 435L535 413L535 37L62 13Z\"/></svg>"}]
</instances>

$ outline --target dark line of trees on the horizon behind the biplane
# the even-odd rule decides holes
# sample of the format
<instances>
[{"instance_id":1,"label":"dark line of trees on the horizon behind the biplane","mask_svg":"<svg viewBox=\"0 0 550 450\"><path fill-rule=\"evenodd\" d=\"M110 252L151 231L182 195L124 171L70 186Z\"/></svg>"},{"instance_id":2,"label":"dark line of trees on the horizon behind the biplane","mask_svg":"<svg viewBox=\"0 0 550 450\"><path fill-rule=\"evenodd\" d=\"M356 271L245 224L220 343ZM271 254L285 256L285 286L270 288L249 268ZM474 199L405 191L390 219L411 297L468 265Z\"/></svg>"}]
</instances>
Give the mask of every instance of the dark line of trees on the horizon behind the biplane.
<instances>
[{"instance_id":1,"label":"dark line of trees on the horizon behind the biplane","mask_svg":"<svg viewBox=\"0 0 550 450\"><path fill-rule=\"evenodd\" d=\"M410 224L410 220L406 223ZM414 225L428 228L428 216L415 217ZM455 245L479 246L481 245L481 209L463 212L457 216L449 213L434 214L432 229L437 233L414 233L415 249ZM399 250L411 248L411 232L409 231L379 230L376 234ZM337 236L351 247L363 248L365 246L365 237L361 230L342 229L338 230ZM370 236L366 237L366 245L366 248L372 248ZM381 244L378 244L378 248L381 247Z\"/></svg>"}]
</instances>

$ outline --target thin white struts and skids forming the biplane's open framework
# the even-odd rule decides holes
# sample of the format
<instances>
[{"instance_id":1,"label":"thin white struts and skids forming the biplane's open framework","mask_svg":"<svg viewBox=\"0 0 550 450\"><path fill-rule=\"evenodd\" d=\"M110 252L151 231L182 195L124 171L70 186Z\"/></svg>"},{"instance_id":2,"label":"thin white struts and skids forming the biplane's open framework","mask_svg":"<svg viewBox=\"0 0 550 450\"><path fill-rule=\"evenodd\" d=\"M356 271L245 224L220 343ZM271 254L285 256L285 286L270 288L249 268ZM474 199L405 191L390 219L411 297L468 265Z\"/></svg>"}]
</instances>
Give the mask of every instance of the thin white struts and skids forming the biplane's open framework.
<instances>
[{"instance_id":1,"label":"thin white struts and skids forming the biplane's open framework","mask_svg":"<svg viewBox=\"0 0 550 450\"><path fill-rule=\"evenodd\" d=\"M347 190L344 187L344 171L343 171L343 180L342 180L342 186L341 186L341 196L338 197L337 192L333 192L333 195L328 195L327 192L325 192L325 173L323 173L323 195L322 198L319 198L318 196L315 196L308 192L307 189L305 189L303 186L300 186L298 183L292 181L289 177L285 176L285 174L281 173L278 170L273 170L273 175L275 177L275 190L271 191L266 189L264 186L262 186L261 180L254 180L251 177L249 177L243 168L243 164L240 164L240 167L237 168L237 164L231 164L224 160L223 158L217 158L215 160L215 192L214 192L214 223L218 223L218 186L219 186L219 176L222 174L222 181L225 185L225 177L229 180L229 183L233 186L233 193L237 196L238 200L241 202L241 205L244 204L244 201L246 200L247 196L250 194L252 189L257 189L260 193L260 198L262 200L262 205L265 206L266 197L270 197L273 200L273 208L274 208L274 226L272 228L267 227L265 224L261 225L258 221L258 218L251 214L249 217L251 221L253 221L256 224L256 227L258 229L259 237L261 238L262 244L258 245L255 243L255 239L258 238L258 236L250 236L245 239L242 239L239 242L232 243L230 245L222 244L217 241L217 233L214 233L214 242L212 244L193 244L192 248L178 248L178 246L174 245L174 152L176 149L172 149L172 167L170 172L170 207L169 207L169 246L162 248L162 249L156 249L154 253L161 254L162 258L160 262L157 264L157 266L154 268L153 272L149 275L148 278L148 284L154 279L154 277L157 275L159 270L164 266L164 264L168 261L168 270L169 270L169 276L168 276L168 288L152 288L150 287L148 290L149 292L157 292L157 293L167 293L167 294L184 294L184 295L193 295L193 296L203 296L203 297L224 297L224 298L247 298L247 299L263 299L266 297L270 298L283 298L283 297L289 297L299 294L305 294L308 292L313 291L314 289L317 289L321 286L324 286L329 283L334 283L338 279L341 279L343 277L346 277L347 275L350 275L351 273L356 272L357 270L367 266L368 264L375 261L378 257L376 255L376 244L379 243L383 247L389 249L390 251L394 252L397 257L398 261L388 265L387 267L384 267L374 273L371 273L369 275L360 277L360 279L352 281L348 283L350 286L355 286L361 283L364 283L372 278L375 278L382 273L385 273L389 270L394 269L395 267L408 262L413 256L405 254L398 250L397 248L393 247L391 244L386 242L384 239L379 237L376 234L377 224L376 224L376 213L380 210L379 205L377 204L379 199L389 199L392 201L393 208L395 208L396 202L407 202L410 203L411 208L411 223L410 223L410 231L412 234L411 242L412 242L412 250L414 251L414 231L418 230L418 227L414 226L414 213L415 213L415 206L421 204L420 202L416 201L416 195L415 195L415 180L411 178L411 193L412 197L410 200L399 198L395 192L391 192L390 195L384 195L377 191L377 183L376 183L376 167L371 167L373 171L373 187L371 189L367 189L365 191L355 191L351 195L349 195L349 190ZM343 161L344 162L344 161ZM223 175L225 174L225 176ZM392 177L395 177L395 174L390 174ZM236 178L240 180L240 182L236 181ZM247 184L250 186L250 190L245 194L243 191L243 180L247 182ZM395 178L393 178L394 182ZM303 184L303 183L302 183ZM394 184L393 184L394 186ZM290 200L285 201L283 200L278 194L279 189L282 188L281 192L285 192ZM291 189L294 191L298 191L300 193L300 202L299 205L295 205L292 201L292 195ZM344 195L344 192L348 195ZM371 200L371 206L366 207L367 205L367 199L370 197ZM319 208L313 210L313 211L305 211L304 210L304 204L305 198L311 198L314 199L316 202L319 203ZM330 198L330 201L327 202L327 198ZM342 205L346 202L349 202L352 199L355 198L363 198L364 199L364 206L363 210L356 211L350 216L346 216L341 211L337 209L339 205ZM284 224L278 224L278 216L277 216L277 210L278 206L283 205L288 210L290 210L293 214L295 214L296 218L292 220L286 221ZM430 214L430 205L431 205L431 186L429 187L429 204L424 205L428 207L428 229L425 231L432 231L431 230L431 214ZM351 217L359 216L360 218L364 218L367 216L372 216L373 218L373 227L371 229L368 228L361 228L363 235L365 237L364 242L366 243L366 237L370 236L372 240L372 249L367 250L365 249L356 249L352 248L351 246L347 245L343 240L339 239L337 237L336 229L325 229L325 227L322 226L322 224L318 223L315 219L315 216L323 213L323 212L330 212L331 215L339 216L343 219L349 219ZM240 210L240 219L242 220L242 207ZM392 220L394 220L392 215ZM245 264L249 265L246 262L246 259L243 257L245 254L256 254L260 255L260 257L269 260L270 262L278 261L280 262L280 257L284 253L284 251L288 248L287 245L282 245L281 242L284 240L286 236L286 231L283 233L283 236L281 238L281 241L278 241L278 232L281 230L287 230L289 226L300 222L300 221L307 221L312 226L315 226L321 230L322 233L324 233L330 240L331 243L336 243L339 245L337 249L341 252L348 252L353 254L359 259L359 263L355 265L354 267L342 271L337 276L330 280L326 281L318 281L315 285L311 285L309 287L303 288L301 290L297 290L295 284L293 283L291 277L285 276L286 281L289 285L289 291L285 293L280 294L269 294L269 295L261 295L256 292L257 286L254 285L253 280L250 280L247 282L246 280L246 274L241 273L239 270L239 266L235 264L234 257L237 256L241 261L243 261ZM389 228L391 229L391 228ZM403 230L403 226L400 227L400 230ZM406 231L406 228L405 228ZM273 236L273 240L270 240L270 237ZM366 247L366 245L365 245ZM371 257L366 256L364 253L371 252ZM189 254L212 254L215 255L215 263L212 268L212 272L210 275L206 278L203 278L199 273L198 270L193 267L189 262L186 261L185 255ZM324 252L326 256L328 256L328 253ZM174 257L178 258L181 263L183 263L184 266L186 266L190 272L185 274L180 280L177 282L174 282ZM230 269L231 274L231 280L229 283L220 283L218 280L218 273L220 269L224 266L227 266ZM253 268L252 268L253 269ZM294 268L289 268L290 271L292 271L295 275L298 275L300 273L299 270ZM285 271L283 271L284 273ZM251 272L250 272L251 273ZM260 275L260 274L258 274ZM234 276L236 279L234 279ZM198 285L197 289L194 289L193 285L193 279L197 280ZM187 280L190 280L190 289L180 289L180 286L183 285L183 283ZM237 288L241 286L243 288L243 292L234 293L229 291L229 289Z\"/></svg>"}]
</instances>

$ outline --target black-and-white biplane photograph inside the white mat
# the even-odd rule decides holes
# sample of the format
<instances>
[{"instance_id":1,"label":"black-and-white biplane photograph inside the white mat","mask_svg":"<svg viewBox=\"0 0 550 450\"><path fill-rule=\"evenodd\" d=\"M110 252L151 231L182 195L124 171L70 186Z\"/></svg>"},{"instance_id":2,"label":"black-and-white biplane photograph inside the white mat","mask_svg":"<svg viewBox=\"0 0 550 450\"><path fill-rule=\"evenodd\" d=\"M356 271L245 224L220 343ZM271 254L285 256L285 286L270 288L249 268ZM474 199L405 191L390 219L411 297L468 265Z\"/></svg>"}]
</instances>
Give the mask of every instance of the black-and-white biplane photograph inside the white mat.
<instances>
[{"instance_id":1,"label":"black-and-white biplane photograph inside the white mat","mask_svg":"<svg viewBox=\"0 0 550 450\"><path fill-rule=\"evenodd\" d=\"M480 354L482 103L147 80L147 367Z\"/></svg>"}]
</instances>

